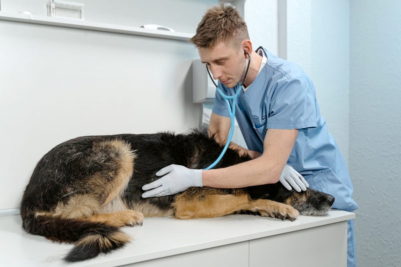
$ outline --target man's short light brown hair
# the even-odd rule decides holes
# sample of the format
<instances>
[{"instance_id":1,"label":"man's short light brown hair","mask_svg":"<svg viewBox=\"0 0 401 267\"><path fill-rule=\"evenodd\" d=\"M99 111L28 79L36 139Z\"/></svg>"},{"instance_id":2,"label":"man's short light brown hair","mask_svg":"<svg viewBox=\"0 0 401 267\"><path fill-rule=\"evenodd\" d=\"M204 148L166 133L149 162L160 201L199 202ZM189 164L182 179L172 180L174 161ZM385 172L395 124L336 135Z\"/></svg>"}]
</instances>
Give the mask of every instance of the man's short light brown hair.
<instances>
[{"instance_id":1,"label":"man's short light brown hair","mask_svg":"<svg viewBox=\"0 0 401 267\"><path fill-rule=\"evenodd\" d=\"M238 10L228 4L222 4L205 13L190 42L196 48L211 48L220 42L239 47L242 41L247 39L247 24Z\"/></svg>"}]
</instances>

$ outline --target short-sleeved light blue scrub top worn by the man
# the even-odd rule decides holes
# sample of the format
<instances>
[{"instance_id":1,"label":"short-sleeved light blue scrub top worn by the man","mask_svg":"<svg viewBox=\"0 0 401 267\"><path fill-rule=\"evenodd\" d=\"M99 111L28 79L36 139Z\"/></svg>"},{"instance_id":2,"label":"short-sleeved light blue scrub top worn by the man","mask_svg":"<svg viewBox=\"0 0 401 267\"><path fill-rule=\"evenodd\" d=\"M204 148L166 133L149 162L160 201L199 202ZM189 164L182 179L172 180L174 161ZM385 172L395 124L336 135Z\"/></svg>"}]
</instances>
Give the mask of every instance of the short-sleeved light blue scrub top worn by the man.
<instances>
[{"instance_id":1,"label":"short-sleeved light blue scrub top worn by the man","mask_svg":"<svg viewBox=\"0 0 401 267\"><path fill-rule=\"evenodd\" d=\"M302 174L311 188L333 195L333 208L357 209L345 160L320 116L311 79L296 64L264 51L267 63L245 93L239 84L227 88L219 82L226 95L241 90L235 117L248 149L263 152L267 129L299 129L287 164ZM218 92L213 113L229 117Z\"/></svg>"}]
</instances>

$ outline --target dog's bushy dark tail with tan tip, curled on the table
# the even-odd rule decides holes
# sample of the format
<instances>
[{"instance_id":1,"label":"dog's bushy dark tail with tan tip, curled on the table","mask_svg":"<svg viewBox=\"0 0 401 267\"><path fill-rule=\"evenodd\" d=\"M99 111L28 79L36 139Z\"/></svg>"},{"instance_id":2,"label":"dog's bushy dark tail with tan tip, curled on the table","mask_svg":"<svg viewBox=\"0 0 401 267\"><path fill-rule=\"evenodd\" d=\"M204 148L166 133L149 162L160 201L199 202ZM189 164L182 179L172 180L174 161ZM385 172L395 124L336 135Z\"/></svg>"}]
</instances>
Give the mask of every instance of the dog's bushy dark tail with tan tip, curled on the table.
<instances>
[{"instance_id":1,"label":"dog's bushy dark tail with tan tip, curled on the table","mask_svg":"<svg viewBox=\"0 0 401 267\"><path fill-rule=\"evenodd\" d=\"M107 253L130 241L118 227L82 219L38 215L23 219L24 229L57 242L74 243L66 261L79 261Z\"/></svg>"}]
</instances>

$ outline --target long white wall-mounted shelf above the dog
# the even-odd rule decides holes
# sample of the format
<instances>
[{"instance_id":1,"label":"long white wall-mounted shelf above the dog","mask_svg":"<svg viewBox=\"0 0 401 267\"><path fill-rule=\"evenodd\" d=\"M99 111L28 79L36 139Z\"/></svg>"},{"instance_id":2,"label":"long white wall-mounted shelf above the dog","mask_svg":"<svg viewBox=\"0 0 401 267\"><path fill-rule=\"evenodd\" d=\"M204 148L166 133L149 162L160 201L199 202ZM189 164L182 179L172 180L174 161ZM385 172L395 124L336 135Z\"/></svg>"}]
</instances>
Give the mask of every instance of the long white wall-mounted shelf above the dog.
<instances>
[{"instance_id":1,"label":"long white wall-mounted shelf above the dog","mask_svg":"<svg viewBox=\"0 0 401 267\"><path fill-rule=\"evenodd\" d=\"M193 36L193 34L187 34L187 33L168 32L162 30L144 29L140 27L131 27L125 25L88 22L75 19L62 19L62 18L28 15L20 13L14 14L1 11L0 11L0 20L33 23L33 24L49 25L49 26L59 26L66 28L84 29L84 30L109 32L109 33L139 35L139 36L172 39L179 41L189 41L189 39Z\"/></svg>"}]
</instances>

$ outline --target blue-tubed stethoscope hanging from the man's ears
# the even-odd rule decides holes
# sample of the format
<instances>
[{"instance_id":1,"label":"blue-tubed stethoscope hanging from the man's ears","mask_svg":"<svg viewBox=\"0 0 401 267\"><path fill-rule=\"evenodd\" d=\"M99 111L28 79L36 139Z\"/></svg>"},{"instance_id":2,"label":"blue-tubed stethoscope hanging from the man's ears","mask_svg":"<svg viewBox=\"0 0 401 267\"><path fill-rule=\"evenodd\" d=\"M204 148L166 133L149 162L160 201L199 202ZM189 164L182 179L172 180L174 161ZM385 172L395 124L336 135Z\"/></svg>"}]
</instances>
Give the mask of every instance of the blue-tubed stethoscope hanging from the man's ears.
<instances>
[{"instance_id":1,"label":"blue-tubed stethoscope hanging from the man's ears","mask_svg":"<svg viewBox=\"0 0 401 267\"><path fill-rule=\"evenodd\" d=\"M220 156L215 160L215 162L213 162L209 167L205 168L204 170L209 170L212 169L213 167L216 166L217 163L219 163L219 161L223 158L224 154L227 151L227 148L230 145L231 139L233 138L233 133L234 133L234 123L235 123L235 103L237 101L238 96L240 95L240 92L243 90L242 87L244 85L245 82L245 78L247 77L248 74L248 69L249 69L249 64L251 63L251 55L249 55L248 52L244 51L244 55L248 55L248 66L245 70L245 75L244 78L241 82L240 87L237 89L237 92L233 95L233 96L228 96L225 93L223 93L223 91L217 86L217 84L215 83L215 80L213 80L212 75L210 74L209 68L208 66L206 66L206 69L208 70L208 74L209 77L212 79L213 84L216 86L216 90L219 92L219 94L224 98L224 100L226 101L227 104L227 108L229 110L229 114L230 114L230 119L231 119L231 126L230 126L230 132L229 135L227 137L227 142L226 145L224 146L222 152L220 153ZM233 106L230 105L229 100L232 99L233 100Z\"/></svg>"}]
</instances>

